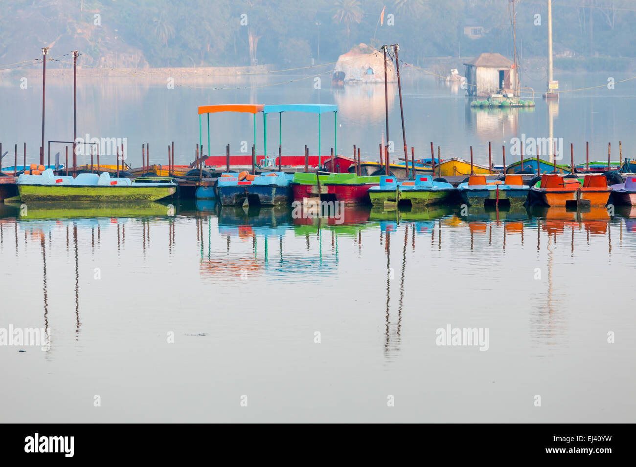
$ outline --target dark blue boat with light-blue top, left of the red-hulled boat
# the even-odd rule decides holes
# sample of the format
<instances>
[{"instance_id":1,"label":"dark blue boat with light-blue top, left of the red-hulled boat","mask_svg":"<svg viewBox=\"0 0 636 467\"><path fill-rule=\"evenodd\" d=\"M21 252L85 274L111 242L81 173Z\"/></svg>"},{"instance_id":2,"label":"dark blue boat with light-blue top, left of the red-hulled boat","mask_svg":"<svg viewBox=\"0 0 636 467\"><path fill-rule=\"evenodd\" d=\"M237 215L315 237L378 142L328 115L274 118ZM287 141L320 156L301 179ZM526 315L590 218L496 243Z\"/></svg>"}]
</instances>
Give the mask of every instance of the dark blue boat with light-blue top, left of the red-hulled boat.
<instances>
[{"instance_id":1,"label":"dark blue boat with light-blue top, left of the red-hulled boat","mask_svg":"<svg viewBox=\"0 0 636 467\"><path fill-rule=\"evenodd\" d=\"M291 180L293 175L285 172L252 175L224 172L218 179L216 191L222 206L249 205L277 206L291 203Z\"/></svg>"}]
</instances>

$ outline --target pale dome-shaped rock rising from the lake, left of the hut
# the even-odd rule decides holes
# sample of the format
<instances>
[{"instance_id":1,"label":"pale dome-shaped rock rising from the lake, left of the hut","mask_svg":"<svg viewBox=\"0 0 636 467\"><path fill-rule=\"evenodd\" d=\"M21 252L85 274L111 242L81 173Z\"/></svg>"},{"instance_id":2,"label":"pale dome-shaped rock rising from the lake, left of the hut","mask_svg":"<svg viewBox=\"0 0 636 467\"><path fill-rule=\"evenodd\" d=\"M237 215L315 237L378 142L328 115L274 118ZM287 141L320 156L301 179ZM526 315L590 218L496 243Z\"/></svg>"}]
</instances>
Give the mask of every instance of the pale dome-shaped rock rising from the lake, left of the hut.
<instances>
[{"instance_id":1,"label":"pale dome-shaped rock rising from the lake, left of the hut","mask_svg":"<svg viewBox=\"0 0 636 467\"><path fill-rule=\"evenodd\" d=\"M333 81L339 83L384 83L384 52L358 44L338 57ZM396 69L387 55L387 82L397 81Z\"/></svg>"}]
</instances>

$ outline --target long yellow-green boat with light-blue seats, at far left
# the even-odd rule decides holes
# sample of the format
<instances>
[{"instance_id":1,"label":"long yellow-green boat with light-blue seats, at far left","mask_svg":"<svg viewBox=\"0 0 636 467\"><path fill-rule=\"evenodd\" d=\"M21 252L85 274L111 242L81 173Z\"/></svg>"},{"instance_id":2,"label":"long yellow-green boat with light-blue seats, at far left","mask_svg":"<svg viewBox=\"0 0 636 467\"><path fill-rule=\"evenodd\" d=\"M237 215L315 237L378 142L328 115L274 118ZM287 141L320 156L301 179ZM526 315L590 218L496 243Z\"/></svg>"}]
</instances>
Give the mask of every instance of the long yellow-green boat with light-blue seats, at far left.
<instances>
[{"instance_id":1,"label":"long yellow-green boat with light-blue seats, at far left","mask_svg":"<svg viewBox=\"0 0 636 467\"><path fill-rule=\"evenodd\" d=\"M50 168L42 175L20 175L17 185L22 201L156 201L177 191L172 180L132 183L106 172L70 177L55 175Z\"/></svg>"}]
</instances>

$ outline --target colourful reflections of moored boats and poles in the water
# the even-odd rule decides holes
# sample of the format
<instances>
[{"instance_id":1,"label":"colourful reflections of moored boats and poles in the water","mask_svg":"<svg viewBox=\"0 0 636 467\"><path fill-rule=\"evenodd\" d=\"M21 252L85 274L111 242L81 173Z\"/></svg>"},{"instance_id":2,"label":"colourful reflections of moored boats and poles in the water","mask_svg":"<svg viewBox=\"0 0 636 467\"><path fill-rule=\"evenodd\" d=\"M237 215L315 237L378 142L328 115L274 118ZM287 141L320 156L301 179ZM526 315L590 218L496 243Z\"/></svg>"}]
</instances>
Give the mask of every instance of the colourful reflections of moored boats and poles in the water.
<instances>
[{"instance_id":1,"label":"colourful reflections of moored boats and poles in the water","mask_svg":"<svg viewBox=\"0 0 636 467\"><path fill-rule=\"evenodd\" d=\"M536 282L538 293L530 297L530 335L539 345L553 345L568 339L564 310L572 279L567 276L566 266L577 259L577 250L584 248L584 254L594 254L597 261L611 257L612 231L622 248L636 248L636 241L631 240L636 233L633 208L617 208L612 217L599 207L348 207L342 217L296 219L289 207L221 207L214 201L197 201L176 202L174 215L169 212L169 206L162 203L71 205L64 209L32 205L27 212L20 212L19 206L1 205L0 252L5 259L13 257L13 250L15 257L24 258L32 269L41 267L41 304L47 332L52 325L52 294L68 296L68 290L51 287L51 258L55 255L55 262L59 262L60 255L66 255L73 264L76 341L82 328L81 276L86 274L82 271L92 271L81 264L88 254L94 258L100 252L116 249L116 261L126 262L137 254L142 259L153 259L167 252L168 267L183 269L184 273L188 267L198 269L201 280L207 283L257 280L321 287L321 281L328 278L347 283L343 274L350 272L341 270L343 255L347 271L351 267L373 271L382 252L386 267L384 300L376 306L382 309L382 348L391 362L403 347L404 313L410 313L418 302L420 289L410 285L411 281L421 283L429 262L433 268L453 267L453 274L459 274L463 281L478 280L478 276L462 272L457 266L473 264L477 257L485 268L481 271L505 264L515 278L527 274L526 266L531 266L530 270L538 268L543 278ZM527 241L529 238L536 238L536 248L533 240ZM39 250L38 262L29 259L34 247ZM429 248L439 256L424 261ZM197 264L189 265L191 256L183 255L188 249L196 252ZM511 255L512 262L493 257L497 250ZM519 299L518 292L501 290L503 297L512 300Z\"/></svg>"}]
</instances>

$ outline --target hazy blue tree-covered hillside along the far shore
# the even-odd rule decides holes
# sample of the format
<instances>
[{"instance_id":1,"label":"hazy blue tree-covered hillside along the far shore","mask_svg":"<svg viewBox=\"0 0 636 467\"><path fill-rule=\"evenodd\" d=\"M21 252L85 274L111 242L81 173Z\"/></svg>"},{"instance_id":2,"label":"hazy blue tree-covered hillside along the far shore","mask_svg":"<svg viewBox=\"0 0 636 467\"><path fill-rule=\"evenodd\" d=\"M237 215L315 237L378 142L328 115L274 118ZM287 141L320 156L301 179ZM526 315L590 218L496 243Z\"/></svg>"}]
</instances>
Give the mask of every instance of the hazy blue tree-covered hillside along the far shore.
<instances>
[{"instance_id":1,"label":"hazy blue tree-covered hillside along the far shore","mask_svg":"<svg viewBox=\"0 0 636 467\"><path fill-rule=\"evenodd\" d=\"M636 55L633 1L553 3L556 55ZM518 53L544 55L546 1L515 8ZM52 57L77 49L83 63L107 67L307 65L361 42L399 42L411 62L511 57L511 23L508 0L4 0L0 64L36 58L45 45Z\"/></svg>"}]
</instances>

